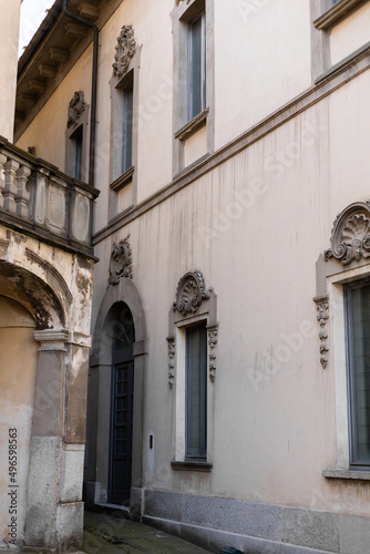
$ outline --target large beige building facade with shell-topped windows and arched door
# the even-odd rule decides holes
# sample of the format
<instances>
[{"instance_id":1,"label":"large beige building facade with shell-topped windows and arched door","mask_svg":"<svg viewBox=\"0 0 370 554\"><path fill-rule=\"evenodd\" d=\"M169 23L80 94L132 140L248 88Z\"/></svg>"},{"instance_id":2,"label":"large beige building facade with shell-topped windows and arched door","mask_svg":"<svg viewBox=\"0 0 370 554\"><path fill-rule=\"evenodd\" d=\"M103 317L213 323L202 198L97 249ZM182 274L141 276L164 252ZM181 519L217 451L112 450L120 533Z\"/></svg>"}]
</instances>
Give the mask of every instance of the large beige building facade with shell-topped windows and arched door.
<instances>
[{"instance_id":1,"label":"large beige building facade with shell-topped windows and arched door","mask_svg":"<svg viewBox=\"0 0 370 554\"><path fill-rule=\"evenodd\" d=\"M17 146L101 191L88 504L212 552L367 552L369 19L56 1L25 50Z\"/></svg>"}]
</instances>

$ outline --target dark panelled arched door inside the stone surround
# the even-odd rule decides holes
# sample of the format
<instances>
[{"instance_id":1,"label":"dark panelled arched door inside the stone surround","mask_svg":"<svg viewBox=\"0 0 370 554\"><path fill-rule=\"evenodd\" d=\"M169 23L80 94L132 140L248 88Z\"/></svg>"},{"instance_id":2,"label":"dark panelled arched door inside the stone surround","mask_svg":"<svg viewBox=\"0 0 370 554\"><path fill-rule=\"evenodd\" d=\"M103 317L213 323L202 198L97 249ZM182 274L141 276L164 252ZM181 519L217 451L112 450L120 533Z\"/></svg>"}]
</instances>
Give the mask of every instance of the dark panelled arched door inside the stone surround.
<instances>
[{"instance_id":1,"label":"dark panelled arched door inside the stone surround","mask_svg":"<svg viewBox=\"0 0 370 554\"><path fill-rule=\"evenodd\" d=\"M132 480L135 326L129 306L112 312L112 386L109 502L127 505Z\"/></svg>"}]
</instances>

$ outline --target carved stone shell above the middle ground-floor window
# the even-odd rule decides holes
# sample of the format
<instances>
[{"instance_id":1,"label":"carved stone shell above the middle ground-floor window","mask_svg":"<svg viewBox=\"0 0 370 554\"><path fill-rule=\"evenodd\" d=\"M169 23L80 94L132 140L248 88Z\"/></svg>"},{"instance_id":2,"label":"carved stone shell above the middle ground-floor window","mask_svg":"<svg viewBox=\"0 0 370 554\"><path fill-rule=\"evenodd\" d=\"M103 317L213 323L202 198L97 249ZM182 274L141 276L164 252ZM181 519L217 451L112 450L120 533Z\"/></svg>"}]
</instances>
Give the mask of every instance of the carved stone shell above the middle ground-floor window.
<instances>
[{"instance_id":1,"label":"carved stone shell above the middle ground-floor window","mask_svg":"<svg viewBox=\"0 0 370 554\"><path fill-rule=\"evenodd\" d=\"M184 317L196 314L203 300L210 297L210 290L206 289L204 277L201 271L189 271L178 281L176 301L173 309L178 310Z\"/></svg>"}]
</instances>

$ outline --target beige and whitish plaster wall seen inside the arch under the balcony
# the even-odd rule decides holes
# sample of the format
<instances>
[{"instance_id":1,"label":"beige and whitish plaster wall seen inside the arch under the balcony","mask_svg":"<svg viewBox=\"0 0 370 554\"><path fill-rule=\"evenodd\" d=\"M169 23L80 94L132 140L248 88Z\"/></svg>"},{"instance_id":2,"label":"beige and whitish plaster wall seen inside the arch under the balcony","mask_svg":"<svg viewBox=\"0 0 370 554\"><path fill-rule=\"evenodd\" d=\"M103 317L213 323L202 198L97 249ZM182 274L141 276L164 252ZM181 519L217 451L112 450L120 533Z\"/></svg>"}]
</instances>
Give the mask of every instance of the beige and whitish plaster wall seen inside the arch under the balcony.
<instances>
[{"instance_id":1,"label":"beige and whitish plaster wall seen inside the arch under the balcony","mask_svg":"<svg viewBox=\"0 0 370 554\"><path fill-rule=\"evenodd\" d=\"M31 314L0 296L0 546L11 536L8 524L17 517L17 538L24 538L28 468L38 360ZM17 430L17 489L9 488L9 430ZM13 444L13 443L12 443ZM11 461L13 462L14 459ZM12 497L10 491L16 490ZM13 511L16 509L16 512ZM9 510L11 513L9 513Z\"/></svg>"}]
</instances>

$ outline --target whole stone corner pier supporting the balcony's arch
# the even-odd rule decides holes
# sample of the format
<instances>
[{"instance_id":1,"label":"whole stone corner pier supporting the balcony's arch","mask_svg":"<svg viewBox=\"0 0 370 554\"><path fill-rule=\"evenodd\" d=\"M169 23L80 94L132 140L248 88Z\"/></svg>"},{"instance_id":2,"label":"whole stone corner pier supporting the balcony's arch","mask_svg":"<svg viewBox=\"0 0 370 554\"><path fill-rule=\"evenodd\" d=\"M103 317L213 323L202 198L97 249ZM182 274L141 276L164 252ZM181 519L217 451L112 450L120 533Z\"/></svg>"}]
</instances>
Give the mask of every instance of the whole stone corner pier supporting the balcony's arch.
<instances>
[{"instance_id":1,"label":"whole stone corner pier supporting the balcony's arch","mask_svg":"<svg viewBox=\"0 0 370 554\"><path fill-rule=\"evenodd\" d=\"M79 336L76 336L79 335ZM66 552L83 538L83 462L90 337L35 331L40 342L25 544Z\"/></svg>"}]
</instances>

